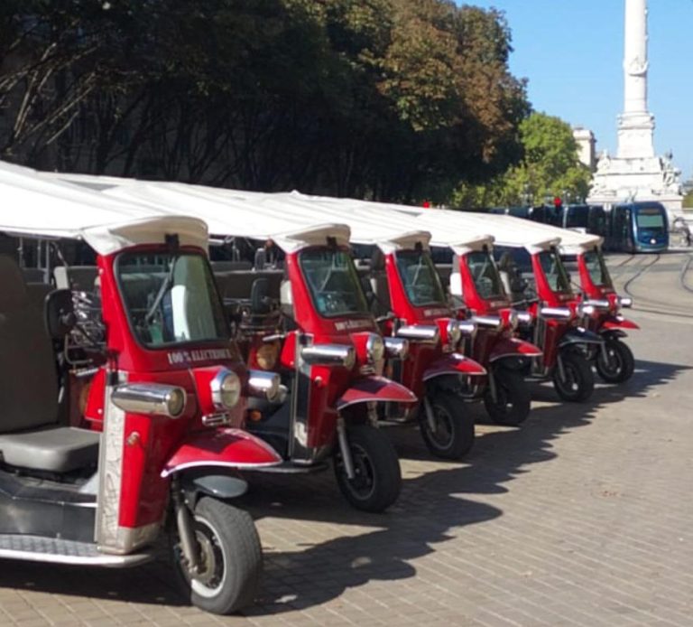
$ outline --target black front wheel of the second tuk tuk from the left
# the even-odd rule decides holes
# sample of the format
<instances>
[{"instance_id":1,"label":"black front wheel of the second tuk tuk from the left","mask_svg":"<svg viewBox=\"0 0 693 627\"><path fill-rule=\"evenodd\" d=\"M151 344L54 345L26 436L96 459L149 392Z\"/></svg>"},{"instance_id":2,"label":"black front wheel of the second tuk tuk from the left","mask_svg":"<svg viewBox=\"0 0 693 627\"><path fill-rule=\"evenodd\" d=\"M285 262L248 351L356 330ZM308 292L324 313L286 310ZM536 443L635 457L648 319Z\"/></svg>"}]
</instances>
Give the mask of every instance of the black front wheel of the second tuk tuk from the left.
<instances>
[{"instance_id":1,"label":"black front wheel of the second tuk tuk from the left","mask_svg":"<svg viewBox=\"0 0 693 627\"><path fill-rule=\"evenodd\" d=\"M335 451L337 485L356 510L380 512L390 507L402 490L400 460L392 442L378 429L367 425L347 428L354 462L354 479L347 477L339 447Z\"/></svg>"}]
</instances>

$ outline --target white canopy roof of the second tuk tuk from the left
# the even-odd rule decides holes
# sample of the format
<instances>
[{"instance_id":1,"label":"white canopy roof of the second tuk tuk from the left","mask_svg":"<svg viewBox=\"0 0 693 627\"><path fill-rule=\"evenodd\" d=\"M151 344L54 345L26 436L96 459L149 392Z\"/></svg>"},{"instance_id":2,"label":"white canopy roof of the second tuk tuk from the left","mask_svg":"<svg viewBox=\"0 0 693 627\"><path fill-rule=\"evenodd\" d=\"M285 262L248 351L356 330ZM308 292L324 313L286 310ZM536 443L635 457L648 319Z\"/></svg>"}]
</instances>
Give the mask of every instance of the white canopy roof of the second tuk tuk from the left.
<instances>
[{"instance_id":1,"label":"white canopy roof of the second tuk tuk from the left","mask_svg":"<svg viewBox=\"0 0 693 627\"><path fill-rule=\"evenodd\" d=\"M216 188L178 182L139 182L113 187L107 196L143 203L158 211L172 211L205 220L209 232L219 236L272 239L291 252L306 246L325 244L328 238L347 244L349 228L337 221L310 220L286 211L285 204L266 201L257 194L251 201L233 192L217 193Z\"/></svg>"}]
</instances>

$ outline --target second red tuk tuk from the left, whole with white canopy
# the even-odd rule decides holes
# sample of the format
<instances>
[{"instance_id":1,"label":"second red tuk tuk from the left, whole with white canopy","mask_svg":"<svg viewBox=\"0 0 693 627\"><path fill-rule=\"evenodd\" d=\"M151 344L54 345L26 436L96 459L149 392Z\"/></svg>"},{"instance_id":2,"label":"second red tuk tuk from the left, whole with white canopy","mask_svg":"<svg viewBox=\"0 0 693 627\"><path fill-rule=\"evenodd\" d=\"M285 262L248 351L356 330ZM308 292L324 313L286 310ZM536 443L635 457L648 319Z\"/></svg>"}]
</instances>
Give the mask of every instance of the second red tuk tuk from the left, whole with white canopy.
<instances>
[{"instance_id":1,"label":"second red tuk tuk from the left, whole with white canopy","mask_svg":"<svg viewBox=\"0 0 693 627\"><path fill-rule=\"evenodd\" d=\"M249 363L282 374L283 402L254 402L248 430L282 455L285 463L273 472L311 472L333 457L347 501L366 511L389 507L402 476L393 445L375 428L376 405L417 398L383 377L386 346L349 254L348 227L301 221L260 198L248 202L178 183L105 193L198 216L212 243L251 242L254 267L215 271L226 302L241 312ZM282 257L278 267L265 266L270 248Z\"/></svg>"}]
</instances>

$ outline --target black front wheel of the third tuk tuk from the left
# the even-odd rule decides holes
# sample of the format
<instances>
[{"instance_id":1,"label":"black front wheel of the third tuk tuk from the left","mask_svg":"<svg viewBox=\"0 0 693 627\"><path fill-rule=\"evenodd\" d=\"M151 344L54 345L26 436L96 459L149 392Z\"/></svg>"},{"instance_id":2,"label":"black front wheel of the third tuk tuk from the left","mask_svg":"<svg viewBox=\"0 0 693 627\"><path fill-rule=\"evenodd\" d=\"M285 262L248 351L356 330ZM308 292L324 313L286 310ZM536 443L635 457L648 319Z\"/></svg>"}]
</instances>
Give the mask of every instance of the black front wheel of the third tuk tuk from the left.
<instances>
[{"instance_id":1,"label":"black front wheel of the third tuk tuk from the left","mask_svg":"<svg viewBox=\"0 0 693 627\"><path fill-rule=\"evenodd\" d=\"M421 403L421 437L431 454L443 459L460 459L474 445L474 418L465 402L451 392L434 391L428 395L433 412L431 429L426 408Z\"/></svg>"}]
</instances>

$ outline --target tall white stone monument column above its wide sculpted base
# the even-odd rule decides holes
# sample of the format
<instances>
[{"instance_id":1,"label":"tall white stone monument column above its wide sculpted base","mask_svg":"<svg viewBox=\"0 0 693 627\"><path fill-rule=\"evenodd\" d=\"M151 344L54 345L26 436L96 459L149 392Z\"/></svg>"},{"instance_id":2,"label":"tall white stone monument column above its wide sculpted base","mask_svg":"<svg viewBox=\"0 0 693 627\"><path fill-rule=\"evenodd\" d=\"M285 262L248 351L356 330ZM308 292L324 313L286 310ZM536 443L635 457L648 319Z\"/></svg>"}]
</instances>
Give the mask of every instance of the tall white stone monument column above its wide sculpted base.
<instances>
[{"instance_id":1,"label":"tall white stone monument column above its wide sculpted base","mask_svg":"<svg viewBox=\"0 0 693 627\"><path fill-rule=\"evenodd\" d=\"M624 113L618 118L622 159L654 156L654 117L647 109L647 0L625 0Z\"/></svg>"}]
</instances>

